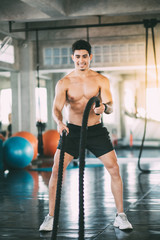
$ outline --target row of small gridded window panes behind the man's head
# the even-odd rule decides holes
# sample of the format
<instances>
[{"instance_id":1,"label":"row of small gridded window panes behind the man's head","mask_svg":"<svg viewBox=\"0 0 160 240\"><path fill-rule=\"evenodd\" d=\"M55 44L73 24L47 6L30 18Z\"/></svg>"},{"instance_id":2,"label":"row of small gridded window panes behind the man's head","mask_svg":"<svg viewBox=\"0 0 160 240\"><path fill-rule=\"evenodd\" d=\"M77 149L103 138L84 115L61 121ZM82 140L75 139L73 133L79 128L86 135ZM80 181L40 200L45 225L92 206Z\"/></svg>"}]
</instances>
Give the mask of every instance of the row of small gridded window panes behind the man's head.
<instances>
[{"instance_id":1,"label":"row of small gridded window panes behind the man's head","mask_svg":"<svg viewBox=\"0 0 160 240\"><path fill-rule=\"evenodd\" d=\"M92 46L93 63L144 63L144 43L106 44ZM54 47L44 49L44 64L73 65L70 47Z\"/></svg>"}]
</instances>

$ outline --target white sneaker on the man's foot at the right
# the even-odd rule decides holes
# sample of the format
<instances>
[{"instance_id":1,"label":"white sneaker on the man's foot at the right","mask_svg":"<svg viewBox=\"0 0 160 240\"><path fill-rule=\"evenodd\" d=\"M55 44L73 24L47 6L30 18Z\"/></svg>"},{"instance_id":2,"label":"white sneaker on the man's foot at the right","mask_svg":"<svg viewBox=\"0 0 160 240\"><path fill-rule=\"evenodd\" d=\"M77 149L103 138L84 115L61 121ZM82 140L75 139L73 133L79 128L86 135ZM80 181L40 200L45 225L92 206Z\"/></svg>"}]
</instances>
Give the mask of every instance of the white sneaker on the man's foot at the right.
<instances>
[{"instance_id":1,"label":"white sneaker on the man's foot at the right","mask_svg":"<svg viewBox=\"0 0 160 240\"><path fill-rule=\"evenodd\" d=\"M121 230L133 229L132 224L128 221L125 213L119 213L116 215L114 227L118 227Z\"/></svg>"}]
</instances>

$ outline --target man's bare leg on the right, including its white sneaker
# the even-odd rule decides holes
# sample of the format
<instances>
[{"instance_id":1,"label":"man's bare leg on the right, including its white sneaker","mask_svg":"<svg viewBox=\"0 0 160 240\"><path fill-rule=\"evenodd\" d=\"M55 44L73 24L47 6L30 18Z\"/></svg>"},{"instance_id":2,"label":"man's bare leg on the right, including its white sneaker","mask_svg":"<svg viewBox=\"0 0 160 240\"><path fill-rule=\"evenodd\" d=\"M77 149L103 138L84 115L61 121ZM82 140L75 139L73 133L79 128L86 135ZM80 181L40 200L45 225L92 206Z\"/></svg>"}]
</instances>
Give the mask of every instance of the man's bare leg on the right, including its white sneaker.
<instances>
[{"instance_id":1,"label":"man's bare leg on the right, including its white sneaker","mask_svg":"<svg viewBox=\"0 0 160 240\"><path fill-rule=\"evenodd\" d=\"M119 172L116 153L112 150L109 153L100 156L99 159L103 162L105 168L111 176L111 190L117 208L117 216L114 221L114 226L119 227L121 230L132 229L132 225L128 221L123 209L123 184Z\"/></svg>"}]
</instances>

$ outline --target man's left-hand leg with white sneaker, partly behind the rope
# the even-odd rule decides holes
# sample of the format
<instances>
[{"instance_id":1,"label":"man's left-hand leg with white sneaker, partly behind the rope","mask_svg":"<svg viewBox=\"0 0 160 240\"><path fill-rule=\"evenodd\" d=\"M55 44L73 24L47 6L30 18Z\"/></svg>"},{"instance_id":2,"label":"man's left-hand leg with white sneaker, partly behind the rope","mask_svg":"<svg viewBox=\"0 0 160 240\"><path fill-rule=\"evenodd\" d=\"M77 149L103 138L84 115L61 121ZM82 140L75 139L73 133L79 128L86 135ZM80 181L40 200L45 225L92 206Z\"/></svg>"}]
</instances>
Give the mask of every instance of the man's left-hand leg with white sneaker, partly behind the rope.
<instances>
[{"instance_id":1,"label":"man's left-hand leg with white sneaker, partly behind the rope","mask_svg":"<svg viewBox=\"0 0 160 240\"><path fill-rule=\"evenodd\" d=\"M52 174L49 180L49 214L45 217L43 223L41 224L39 228L40 231L51 231L53 228L53 216L54 216L56 191L57 191L59 157L60 157L60 150L57 149L54 155L54 164L52 168ZM72 159L73 159L73 156L69 155L68 153L65 153L63 174L68 164L72 161Z\"/></svg>"}]
</instances>

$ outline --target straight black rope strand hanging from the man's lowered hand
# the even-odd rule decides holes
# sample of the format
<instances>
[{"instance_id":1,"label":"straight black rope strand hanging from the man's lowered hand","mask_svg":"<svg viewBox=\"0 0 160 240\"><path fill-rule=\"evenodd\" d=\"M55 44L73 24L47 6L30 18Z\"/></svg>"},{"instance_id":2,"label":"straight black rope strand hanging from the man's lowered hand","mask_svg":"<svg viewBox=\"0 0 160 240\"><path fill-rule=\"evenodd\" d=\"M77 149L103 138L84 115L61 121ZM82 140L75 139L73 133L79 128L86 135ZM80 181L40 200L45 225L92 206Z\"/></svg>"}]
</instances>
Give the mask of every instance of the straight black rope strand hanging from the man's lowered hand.
<instances>
[{"instance_id":1,"label":"straight black rope strand hanging from the man's lowered hand","mask_svg":"<svg viewBox=\"0 0 160 240\"><path fill-rule=\"evenodd\" d=\"M62 132L62 144L61 144L61 151L60 151L58 180L57 180L57 191L56 191L56 201L55 201L55 210L54 210L53 229L52 229L51 240L56 240L57 239L57 228L58 228L58 221L59 221L59 210L60 210L62 181L63 181L65 137L66 137L66 131L64 130Z\"/></svg>"}]
</instances>

